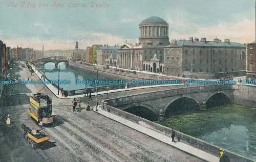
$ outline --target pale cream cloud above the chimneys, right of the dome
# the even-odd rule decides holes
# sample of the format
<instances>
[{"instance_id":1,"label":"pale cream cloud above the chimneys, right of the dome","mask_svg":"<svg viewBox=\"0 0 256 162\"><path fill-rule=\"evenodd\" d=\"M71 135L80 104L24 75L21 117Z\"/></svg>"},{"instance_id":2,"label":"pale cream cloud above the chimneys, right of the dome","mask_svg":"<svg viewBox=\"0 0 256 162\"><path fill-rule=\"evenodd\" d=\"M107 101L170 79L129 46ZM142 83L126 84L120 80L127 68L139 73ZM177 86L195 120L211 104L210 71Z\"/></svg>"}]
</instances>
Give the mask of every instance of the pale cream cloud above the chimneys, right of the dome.
<instances>
[{"instance_id":1,"label":"pale cream cloud above the chimneys, right of the dome","mask_svg":"<svg viewBox=\"0 0 256 162\"><path fill-rule=\"evenodd\" d=\"M213 40L215 37L219 39L230 39L232 42L250 43L255 41L255 18L237 23L219 23L215 26L200 27L193 25L196 29L195 33L187 35L179 30L172 31L170 38L180 39L188 37L206 37L207 40ZM188 28L189 29L189 28Z\"/></svg>"}]
</instances>

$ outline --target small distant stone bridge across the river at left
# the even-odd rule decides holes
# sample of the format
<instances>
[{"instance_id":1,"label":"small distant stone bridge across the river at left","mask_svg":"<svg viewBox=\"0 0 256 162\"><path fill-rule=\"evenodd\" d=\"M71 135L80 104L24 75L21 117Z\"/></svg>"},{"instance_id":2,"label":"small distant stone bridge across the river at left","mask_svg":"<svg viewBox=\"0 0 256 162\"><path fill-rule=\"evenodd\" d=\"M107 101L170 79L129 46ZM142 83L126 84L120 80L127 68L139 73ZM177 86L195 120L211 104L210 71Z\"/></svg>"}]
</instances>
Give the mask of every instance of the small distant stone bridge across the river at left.
<instances>
[{"instance_id":1,"label":"small distant stone bridge across the river at left","mask_svg":"<svg viewBox=\"0 0 256 162\"><path fill-rule=\"evenodd\" d=\"M56 68L59 63L66 63L66 65L69 65L69 61L65 57L46 57L34 61L34 65L45 65L46 63L54 63Z\"/></svg>"}]
</instances>

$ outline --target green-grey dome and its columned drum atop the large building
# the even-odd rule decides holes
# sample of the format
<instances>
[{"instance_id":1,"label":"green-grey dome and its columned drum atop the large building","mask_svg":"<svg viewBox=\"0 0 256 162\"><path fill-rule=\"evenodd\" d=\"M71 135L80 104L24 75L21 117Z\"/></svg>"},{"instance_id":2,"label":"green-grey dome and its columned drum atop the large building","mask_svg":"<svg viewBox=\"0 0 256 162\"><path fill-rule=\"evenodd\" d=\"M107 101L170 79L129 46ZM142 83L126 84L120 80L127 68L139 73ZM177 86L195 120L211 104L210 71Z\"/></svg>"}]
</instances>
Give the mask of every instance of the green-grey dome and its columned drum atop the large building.
<instances>
[{"instance_id":1,"label":"green-grey dome and its columned drum atop the large building","mask_svg":"<svg viewBox=\"0 0 256 162\"><path fill-rule=\"evenodd\" d=\"M140 45L169 45L169 24L162 18L151 16L139 24Z\"/></svg>"}]
</instances>

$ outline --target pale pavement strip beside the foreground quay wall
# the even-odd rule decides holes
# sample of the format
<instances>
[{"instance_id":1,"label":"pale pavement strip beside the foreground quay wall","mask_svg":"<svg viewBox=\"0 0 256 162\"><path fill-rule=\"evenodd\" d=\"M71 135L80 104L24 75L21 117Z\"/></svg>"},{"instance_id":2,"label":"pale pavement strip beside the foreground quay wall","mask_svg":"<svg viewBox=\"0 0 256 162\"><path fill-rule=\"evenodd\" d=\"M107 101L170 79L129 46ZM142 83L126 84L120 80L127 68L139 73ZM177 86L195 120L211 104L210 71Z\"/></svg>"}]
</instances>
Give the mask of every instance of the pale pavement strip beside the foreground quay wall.
<instances>
[{"instance_id":1,"label":"pale pavement strip beside the foreground quay wall","mask_svg":"<svg viewBox=\"0 0 256 162\"><path fill-rule=\"evenodd\" d=\"M142 132L142 133L146 134L147 136L150 136L150 137L152 137L154 139L157 139L157 140L159 140L159 141L161 141L163 143L171 145L171 146L173 146L173 147L175 147L175 148L177 148L179 150L182 150L182 151L184 151L186 153L194 155L194 156L196 156L196 157L198 157L200 159L203 159L203 160L206 160L206 161L210 161L210 162L217 162L217 161L219 161L219 157L216 157L216 156L214 156L212 154L209 154L209 153L207 153L205 151L199 150L197 148L194 148L194 147L189 146L187 144L184 144L182 142L174 143L174 142L172 142L172 138L167 137L167 136L165 136L165 135L163 135L163 134L161 134L159 132L156 132L154 130L148 129L148 128L146 128L144 126L141 126L141 125L139 125L137 123L131 122L131 121L129 121L127 119L124 119L122 117L119 117L119 116L117 116L115 114L106 112L106 111L102 110L100 106L98 106L98 111L96 111L96 106L93 107L93 111L95 111L95 112L97 112L97 113L99 113L99 114L101 114L101 115L103 115L105 117L108 117L108 118L110 118L110 119L112 119L114 121L117 121L117 122L119 122L119 123L121 123L123 125L126 125L126 126L128 126L130 128L133 128L133 129L135 129L135 130L137 130L139 132Z\"/></svg>"}]
</instances>

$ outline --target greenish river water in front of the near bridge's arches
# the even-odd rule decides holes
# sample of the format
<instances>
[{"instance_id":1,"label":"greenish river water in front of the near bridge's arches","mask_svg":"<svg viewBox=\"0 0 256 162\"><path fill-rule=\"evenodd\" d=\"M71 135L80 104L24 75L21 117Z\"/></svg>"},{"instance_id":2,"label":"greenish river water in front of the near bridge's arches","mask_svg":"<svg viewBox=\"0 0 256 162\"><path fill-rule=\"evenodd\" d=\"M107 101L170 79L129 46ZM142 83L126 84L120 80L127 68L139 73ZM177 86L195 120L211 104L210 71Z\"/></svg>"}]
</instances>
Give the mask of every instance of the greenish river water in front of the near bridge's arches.
<instances>
[{"instance_id":1,"label":"greenish river water in front of the near bridge's arches","mask_svg":"<svg viewBox=\"0 0 256 162\"><path fill-rule=\"evenodd\" d=\"M256 108L230 104L156 121L256 160Z\"/></svg>"}]
</instances>

